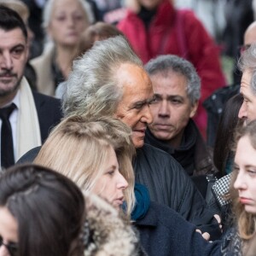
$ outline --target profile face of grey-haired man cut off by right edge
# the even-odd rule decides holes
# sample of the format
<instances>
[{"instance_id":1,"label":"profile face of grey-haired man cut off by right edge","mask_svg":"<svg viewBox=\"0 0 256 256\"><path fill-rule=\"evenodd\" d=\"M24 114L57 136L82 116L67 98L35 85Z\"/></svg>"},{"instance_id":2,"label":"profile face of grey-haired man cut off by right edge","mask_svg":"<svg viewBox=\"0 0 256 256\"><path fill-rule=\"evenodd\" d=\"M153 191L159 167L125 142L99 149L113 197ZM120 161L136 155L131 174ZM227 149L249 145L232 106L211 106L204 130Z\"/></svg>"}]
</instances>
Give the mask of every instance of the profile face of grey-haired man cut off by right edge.
<instances>
[{"instance_id":1,"label":"profile face of grey-haired man cut off by right edge","mask_svg":"<svg viewBox=\"0 0 256 256\"><path fill-rule=\"evenodd\" d=\"M245 71L241 77L240 93L243 96L243 102L238 113L240 119L244 119L246 123L256 119L256 95L253 94L250 82L252 73Z\"/></svg>"}]
</instances>

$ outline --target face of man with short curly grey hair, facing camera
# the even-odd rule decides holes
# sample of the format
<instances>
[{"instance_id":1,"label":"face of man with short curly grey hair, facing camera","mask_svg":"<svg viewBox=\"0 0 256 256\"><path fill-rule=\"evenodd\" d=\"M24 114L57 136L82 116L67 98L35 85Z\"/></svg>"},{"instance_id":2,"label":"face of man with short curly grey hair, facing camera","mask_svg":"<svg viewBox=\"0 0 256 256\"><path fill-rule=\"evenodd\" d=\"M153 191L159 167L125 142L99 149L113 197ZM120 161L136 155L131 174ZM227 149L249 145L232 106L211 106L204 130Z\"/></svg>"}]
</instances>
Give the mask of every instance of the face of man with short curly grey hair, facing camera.
<instances>
[{"instance_id":1,"label":"face of man with short curly grey hair, facing camera","mask_svg":"<svg viewBox=\"0 0 256 256\"><path fill-rule=\"evenodd\" d=\"M154 137L178 147L189 118L195 115L197 103L192 106L187 95L187 79L180 73L156 73L150 76L154 103L150 110L153 123L148 125Z\"/></svg>"}]
</instances>

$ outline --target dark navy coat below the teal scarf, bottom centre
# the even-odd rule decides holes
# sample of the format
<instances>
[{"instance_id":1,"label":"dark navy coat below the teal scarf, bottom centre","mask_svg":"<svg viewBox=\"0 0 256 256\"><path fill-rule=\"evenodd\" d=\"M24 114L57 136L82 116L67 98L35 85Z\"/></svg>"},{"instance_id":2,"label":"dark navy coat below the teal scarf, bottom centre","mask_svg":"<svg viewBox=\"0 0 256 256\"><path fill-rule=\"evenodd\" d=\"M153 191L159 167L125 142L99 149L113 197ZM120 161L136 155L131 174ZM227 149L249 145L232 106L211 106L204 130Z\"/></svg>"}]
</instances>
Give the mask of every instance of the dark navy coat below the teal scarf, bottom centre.
<instances>
[{"instance_id":1,"label":"dark navy coat below the teal scarf, bottom centre","mask_svg":"<svg viewBox=\"0 0 256 256\"><path fill-rule=\"evenodd\" d=\"M195 225L155 202L151 202L147 214L135 226L148 256L221 255L220 241L206 241L195 232Z\"/></svg>"}]
</instances>

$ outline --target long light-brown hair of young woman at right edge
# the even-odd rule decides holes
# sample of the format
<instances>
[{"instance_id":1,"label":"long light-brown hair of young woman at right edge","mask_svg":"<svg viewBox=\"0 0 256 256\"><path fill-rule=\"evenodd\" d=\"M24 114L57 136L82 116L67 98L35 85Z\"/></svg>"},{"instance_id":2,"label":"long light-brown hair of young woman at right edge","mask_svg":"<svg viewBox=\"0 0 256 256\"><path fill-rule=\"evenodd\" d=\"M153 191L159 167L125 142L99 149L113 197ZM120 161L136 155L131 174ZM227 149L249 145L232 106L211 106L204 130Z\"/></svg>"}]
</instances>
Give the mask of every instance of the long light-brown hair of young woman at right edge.
<instances>
[{"instance_id":1,"label":"long light-brown hair of young woman at right edge","mask_svg":"<svg viewBox=\"0 0 256 256\"><path fill-rule=\"evenodd\" d=\"M246 126L240 127L240 129L237 131L236 148L241 137L248 137L253 148L256 150L256 120L252 121ZM256 215L246 212L244 205L242 205L239 201L238 191L234 188L237 175L238 172L235 169L232 172L230 195L233 203L233 212L235 213L238 233L244 245L246 245L253 238L253 236L256 236Z\"/></svg>"}]
</instances>

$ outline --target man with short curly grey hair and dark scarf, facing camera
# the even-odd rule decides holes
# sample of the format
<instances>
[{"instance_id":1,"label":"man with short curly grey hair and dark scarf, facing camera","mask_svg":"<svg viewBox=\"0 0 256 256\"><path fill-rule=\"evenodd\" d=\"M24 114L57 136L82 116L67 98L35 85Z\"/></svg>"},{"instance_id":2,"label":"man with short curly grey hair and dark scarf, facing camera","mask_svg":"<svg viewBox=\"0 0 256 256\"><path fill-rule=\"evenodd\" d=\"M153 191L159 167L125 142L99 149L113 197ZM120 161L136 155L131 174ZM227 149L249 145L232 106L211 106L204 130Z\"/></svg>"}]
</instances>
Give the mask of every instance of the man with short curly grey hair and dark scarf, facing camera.
<instances>
[{"instance_id":1,"label":"man with short curly grey hair and dark scarf, facing camera","mask_svg":"<svg viewBox=\"0 0 256 256\"><path fill-rule=\"evenodd\" d=\"M215 168L210 150L192 119L201 96L201 80L195 67L177 55L160 55L148 61L145 69L155 97L150 105L153 122L148 125L145 143L171 154L189 176L200 181L198 189L206 195L204 175L214 173Z\"/></svg>"}]
</instances>

